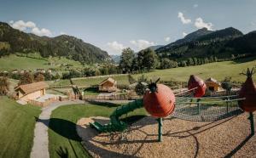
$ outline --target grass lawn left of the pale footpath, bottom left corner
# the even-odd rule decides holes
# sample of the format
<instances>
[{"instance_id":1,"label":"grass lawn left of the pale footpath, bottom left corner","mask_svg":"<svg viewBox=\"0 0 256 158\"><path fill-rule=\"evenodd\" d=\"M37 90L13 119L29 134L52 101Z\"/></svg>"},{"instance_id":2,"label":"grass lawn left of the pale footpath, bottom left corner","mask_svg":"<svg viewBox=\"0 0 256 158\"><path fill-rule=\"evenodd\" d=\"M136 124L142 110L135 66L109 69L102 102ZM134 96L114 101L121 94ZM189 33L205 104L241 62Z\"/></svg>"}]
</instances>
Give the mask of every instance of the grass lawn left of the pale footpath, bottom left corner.
<instances>
[{"instance_id":1,"label":"grass lawn left of the pale footpath, bottom left corner","mask_svg":"<svg viewBox=\"0 0 256 158\"><path fill-rule=\"evenodd\" d=\"M30 157L40 108L0 97L0 157Z\"/></svg>"}]
</instances>

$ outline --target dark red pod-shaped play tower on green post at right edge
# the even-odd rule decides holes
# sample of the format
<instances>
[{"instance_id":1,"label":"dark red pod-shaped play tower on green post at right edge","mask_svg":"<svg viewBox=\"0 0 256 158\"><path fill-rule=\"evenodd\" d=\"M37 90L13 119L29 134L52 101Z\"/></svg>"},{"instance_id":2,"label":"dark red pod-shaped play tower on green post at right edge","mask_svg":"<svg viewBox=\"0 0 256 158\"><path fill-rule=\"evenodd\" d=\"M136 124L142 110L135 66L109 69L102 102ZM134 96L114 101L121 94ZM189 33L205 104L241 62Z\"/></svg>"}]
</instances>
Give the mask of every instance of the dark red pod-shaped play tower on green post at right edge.
<instances>
[{"instance_id":1,"label":"dark red pod-shaped play tower on green post at right edge","mask_svg":"<svg viewBox=\"0 0 256 158\"><path fill-rule=\"evenodd\" d=\"M242 75L247 76L247 80L246 82L244 82L239 92L239 97L245 98L244 100L241 100L241 102L239 102L239 105L242 110L249 112L248 119L250 120L251 123L252 135L254 134L253 111L256 110L256 86L253 83L252 77L254 73L254 68L252 69L252 71L250 71L249 68L247 68L246 73L244 71L241 73Z\"/></svg>"}]
</instances>

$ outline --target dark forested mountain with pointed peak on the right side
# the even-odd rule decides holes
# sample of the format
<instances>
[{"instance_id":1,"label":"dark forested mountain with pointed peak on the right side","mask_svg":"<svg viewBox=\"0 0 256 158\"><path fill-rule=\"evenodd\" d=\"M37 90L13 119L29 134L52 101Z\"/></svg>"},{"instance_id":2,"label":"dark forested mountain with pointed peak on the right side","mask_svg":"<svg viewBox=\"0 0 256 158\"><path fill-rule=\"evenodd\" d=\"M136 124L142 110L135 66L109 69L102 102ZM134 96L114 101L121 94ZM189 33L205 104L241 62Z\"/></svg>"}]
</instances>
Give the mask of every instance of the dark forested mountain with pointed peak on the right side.
<instances>
[{"instance_id":1,"label":"dark forested mountain with pointed peak on the right side","mask_svg":"<svg viewBox=\"0 0 256 158\"><path fill-rule=\"evenodd\" d=\"M242 32L233 27L218 31L207 31L206 28L203 28L155 51L161 58L175 60L210 56L226 59L230 58L231 54L240 54L237 51L232 51L234 48L230 48L231 41L240 37L244 37ZM232 47L235 45L233 44ZM236 48L236 50L238 49Z\"/></svg>"}]
</instances>

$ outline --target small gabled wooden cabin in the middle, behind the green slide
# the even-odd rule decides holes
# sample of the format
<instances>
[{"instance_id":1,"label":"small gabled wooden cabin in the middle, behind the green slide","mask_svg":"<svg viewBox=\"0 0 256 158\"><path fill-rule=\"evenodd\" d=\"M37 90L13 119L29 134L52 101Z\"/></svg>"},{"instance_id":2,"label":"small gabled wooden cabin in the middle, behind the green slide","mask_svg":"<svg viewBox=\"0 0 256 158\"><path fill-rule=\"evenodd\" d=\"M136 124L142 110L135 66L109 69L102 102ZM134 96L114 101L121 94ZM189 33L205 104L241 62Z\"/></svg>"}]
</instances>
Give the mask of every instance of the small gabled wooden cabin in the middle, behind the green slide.
<instances>
[{"instance_id":1,"label":"small gabled wooden cabin in the middle, behind the green slide","mask_svg":"<svg viewBox=\"0 0 256 158\"><path fill-rule=\"evenodd\" d=\"M108 77L99 84L100 92L115 92L117 90L117 82L113 78Z\"/></svg>"}]
</instances>

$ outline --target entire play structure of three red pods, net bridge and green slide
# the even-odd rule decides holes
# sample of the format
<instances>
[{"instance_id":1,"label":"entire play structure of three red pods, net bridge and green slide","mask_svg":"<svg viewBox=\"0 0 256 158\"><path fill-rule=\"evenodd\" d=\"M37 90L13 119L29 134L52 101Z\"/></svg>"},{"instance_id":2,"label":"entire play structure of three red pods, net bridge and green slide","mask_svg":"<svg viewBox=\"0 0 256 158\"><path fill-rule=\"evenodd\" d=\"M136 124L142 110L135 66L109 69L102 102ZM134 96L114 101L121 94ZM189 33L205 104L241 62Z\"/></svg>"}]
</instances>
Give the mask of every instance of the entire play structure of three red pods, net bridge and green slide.
<instances>
[{"instance_id":1,"label":"entire play structure of three red pods, net bridge and green slide","mask_svg":"<svg viewBox=\"0 0 256 158\"><path fill-rule=\"evenodd\" d=\"M252 80L254 71L247 70L247 81L239 95L222 97L202 97L206 92L206 84L198 76L189 77L189 90L174 95L171 88L153 82L143 99L137 99L122 105L113 111L110 123L102 125L90 123L100 133L123 132L128 127L119 117L133 110L144 107L159 123L159 137L162 140L162 118L172 116L189 121L216 121L229 116L241 114L242 110L250 112L252 134L254 134L253 111L256 110L256 87ZM193 101L196 98L196 101ZM241 107L241 108L240 108ZM175 110L174 110L175 109ZM241 110L242 109L242 110Z\"/></svg>"}]
</instances>

